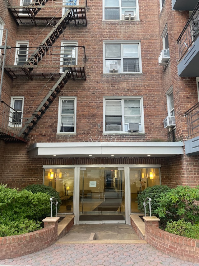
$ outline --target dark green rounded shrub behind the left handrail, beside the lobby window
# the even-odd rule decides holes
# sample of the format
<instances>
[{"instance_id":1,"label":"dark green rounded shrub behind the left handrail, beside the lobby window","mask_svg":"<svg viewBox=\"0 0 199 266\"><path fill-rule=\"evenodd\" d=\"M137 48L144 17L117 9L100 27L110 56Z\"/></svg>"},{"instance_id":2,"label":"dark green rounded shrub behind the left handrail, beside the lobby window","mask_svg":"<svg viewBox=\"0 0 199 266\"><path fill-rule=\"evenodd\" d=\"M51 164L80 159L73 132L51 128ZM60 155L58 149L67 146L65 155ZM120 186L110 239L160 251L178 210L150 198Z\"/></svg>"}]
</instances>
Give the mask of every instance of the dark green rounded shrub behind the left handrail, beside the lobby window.
<instances>
[{"instance_id":1,"label":"dark green rounded shrub behind the left handrail, beside the lobby window","mask_svg":"<svg viewBox=\"0 0 199 266\"><path fill-rule=\"evenodd\" d=\"M48 193L50 198L55 197L58 201L57 209L59 210L62 201L60 200L59 192L56 191L54 188L50 186L41 185L41 184L37 184L37 185L33 184L33 185L26 186L25 190L31 191L32 193L37 193L37 192ZM55 213L56 213L56 206L54 206L53 204L53 215L55 215Z\"/></svg>"}]
</instances>

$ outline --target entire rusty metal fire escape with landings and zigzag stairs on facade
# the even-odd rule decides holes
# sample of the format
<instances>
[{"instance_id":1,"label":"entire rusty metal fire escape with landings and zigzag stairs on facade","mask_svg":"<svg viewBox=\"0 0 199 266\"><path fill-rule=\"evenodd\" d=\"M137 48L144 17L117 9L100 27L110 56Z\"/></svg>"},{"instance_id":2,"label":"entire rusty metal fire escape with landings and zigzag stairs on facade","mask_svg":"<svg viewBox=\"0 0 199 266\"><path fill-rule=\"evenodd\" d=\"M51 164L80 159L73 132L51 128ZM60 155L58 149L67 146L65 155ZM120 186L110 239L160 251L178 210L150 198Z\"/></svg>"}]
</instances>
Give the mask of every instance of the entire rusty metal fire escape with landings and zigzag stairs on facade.
<instances>
[{"instance_id":1,"label":"entire rusty metal fire escape with landings and zigzag stairs on facade","mask_svg":"<svg viewBox=\"0 0 199 266\"><path fill-rule=\"evenodd\" d=\"M8 131L0 129L1 139L27 140L27 136L29 135L29 133L36 126L36 124L39 122L42 116L46 113L47 109L49 109L50 105L56 99L61 89L67 83L67 81L70 79L86 80L86 71L85 71L86 54L85 54L84 46L81 46L78 48L79 50L80 48L82 48L81 56L83 57L83 64L64 65L62 66L62 71L54 71L55 69L60 70L61 66L60 66L60 63L59 65L52 63L51 65L47 64L47 70L46 71L44 70L45 69L44 65L46 64L47 58L48 59L50 58L49 61L52 61L53 49L55 49L56 47L56 46L53 46L53 44L56 42L59 36L63 34L63 31L66 29L66 27L69 24L74 25L74 26L77 26L77 25L87 26L87 21L86 21L87 2L85 2L85 6L67 6L67 8L66 6L64 6L64 8L66 8L66 11L62 17L54 16L54 17L38 17L37 18L36 15L38 14L38 12L44 7L46 3L49 4L50 1L52 0L35 0L34 2L30 3L29 6L8 7L17 25L35 24L35 26L38 26L42 24L45 24L45 25L48 24L50 26L53 26L53 29L44 38L44 40L40 43L40 45L34 48L34 51L31 52L31 54L29 55L28 59L25 61L24 64L22 65L5 64L4 71L12 79L29 78L33 80L35 78L37 79L38 78L49 78L51 80L57 80L57 81L55 82L53 87L49 90L49 93L41 101L39 106L35 108L35 111L31 115L31 117L26 119L25 125L22 127L22 129L19 130L18 128L16 134L12 134L11 132L9 132L9 128L7 129ZM56 1L60 1L60 0L55 0L55 2ZM64 1L68 1L68 0L64 0ZM74 0L69 0L69 1L72 2ZM62 8L60 10L62 10ZM58 48L60 49L60 47ZM57 58L58 55L57 53L55 54ZM42 64L43 61L44 61L44 64ZM50 68L52 68L52 70L49 70ZM1 101L1 103L4 103L4 102ZM12 118L10 117L10 113L8 117L9 117L8 121L11 121Z\"/></svg>"}]
</instances>

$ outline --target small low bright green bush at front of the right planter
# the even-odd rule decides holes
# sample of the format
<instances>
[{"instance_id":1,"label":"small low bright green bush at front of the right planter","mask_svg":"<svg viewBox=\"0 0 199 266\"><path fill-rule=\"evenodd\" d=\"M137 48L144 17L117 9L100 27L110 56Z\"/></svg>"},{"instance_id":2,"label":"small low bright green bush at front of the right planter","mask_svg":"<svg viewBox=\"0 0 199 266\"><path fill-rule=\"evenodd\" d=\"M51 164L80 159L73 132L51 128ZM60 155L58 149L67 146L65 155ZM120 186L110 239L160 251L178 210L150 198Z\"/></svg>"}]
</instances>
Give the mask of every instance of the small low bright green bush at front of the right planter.
<instances>
[{"instance_id":1,"label":"small low bright green bush at front of the right planter","mask_svg":"<svg viewBox=\"0 0 199 266\"><path fill-rule=\"evenodd\" d=\"M199 226L192 225L191 222L187 222L184 219L168 222L165 231L175 235L199 239Z\"/></svg>"}]
</instances>

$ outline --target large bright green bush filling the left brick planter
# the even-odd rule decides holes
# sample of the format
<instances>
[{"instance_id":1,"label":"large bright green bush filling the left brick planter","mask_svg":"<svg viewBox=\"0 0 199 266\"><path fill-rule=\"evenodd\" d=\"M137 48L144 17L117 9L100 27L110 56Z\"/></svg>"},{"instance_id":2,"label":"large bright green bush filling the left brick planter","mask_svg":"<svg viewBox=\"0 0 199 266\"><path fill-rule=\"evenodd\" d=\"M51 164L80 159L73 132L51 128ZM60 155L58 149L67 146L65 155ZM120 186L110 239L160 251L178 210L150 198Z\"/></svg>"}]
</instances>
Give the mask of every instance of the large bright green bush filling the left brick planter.
<instances>
[{"instance_id":1,"label":"large bright green bush filling the left brick planter","mask_svg":"<svg viewBox=\"0 0 199 266\"><path fill-rule=\"evenodd\" d=\"M38 230L49 213L49 194L18 191L0 184L0 236Z\"/></svg>"}]
</instances>

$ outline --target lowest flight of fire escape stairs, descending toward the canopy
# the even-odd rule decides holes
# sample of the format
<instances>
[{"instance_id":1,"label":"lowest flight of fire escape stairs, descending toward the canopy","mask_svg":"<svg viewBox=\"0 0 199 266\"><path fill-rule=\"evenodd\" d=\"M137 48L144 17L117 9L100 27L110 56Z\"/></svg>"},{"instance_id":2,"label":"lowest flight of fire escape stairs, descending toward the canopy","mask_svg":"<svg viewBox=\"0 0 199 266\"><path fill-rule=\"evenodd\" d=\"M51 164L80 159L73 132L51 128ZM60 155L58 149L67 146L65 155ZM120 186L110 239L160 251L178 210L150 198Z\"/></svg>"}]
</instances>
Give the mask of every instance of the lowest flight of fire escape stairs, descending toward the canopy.
<instances>
[{"instance_id":1,"label":"lowest flight of fire escape stairs, descending toward the canopy","mask_svg":"<svg viewBox=\"0 0 199 266\"><path fill-rule=\"evenodd\" d=\"M25 139L27 138L32 129L36 126L36 124L39 122L42 116L49 109L50 105L57 98L58 94L60 93L64 85L67 83L67 81L70 79L70 77L71 77L70 71L68 69L65 70L65 72L58 79L58 81L55 83L52 89L50 89L49 93L44 97L42 102L35 109L32 116L29 119L27 119L27 121L25 122L25 126L18 133L19 137L24 135L24 138Z\"/></svg>"}]
</instances>

